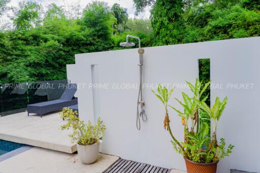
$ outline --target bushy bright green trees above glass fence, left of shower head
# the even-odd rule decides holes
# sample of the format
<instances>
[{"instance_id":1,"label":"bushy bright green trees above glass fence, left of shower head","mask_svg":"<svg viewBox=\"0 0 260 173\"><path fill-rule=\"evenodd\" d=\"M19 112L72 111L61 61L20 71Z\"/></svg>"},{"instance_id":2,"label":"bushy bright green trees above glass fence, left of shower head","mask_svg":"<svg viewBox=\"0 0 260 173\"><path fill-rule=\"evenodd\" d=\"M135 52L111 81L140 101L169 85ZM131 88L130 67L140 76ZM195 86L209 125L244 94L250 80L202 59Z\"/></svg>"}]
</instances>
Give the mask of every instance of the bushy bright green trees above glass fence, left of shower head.
<instances>
[{"instance_id":1,"label":"bushy bright green trees above glass fence, left of shower head","mask_svg":"<svg viewBox=\"0 0 260 173\"><path fill-rule=\"evenodd\" d=\"M66 79L75 54L112 49L115 18L108 6L94 2L84 12L71 19L52 4L41 25L0 31L0 83Z\"/></svg>"}]
</instances>

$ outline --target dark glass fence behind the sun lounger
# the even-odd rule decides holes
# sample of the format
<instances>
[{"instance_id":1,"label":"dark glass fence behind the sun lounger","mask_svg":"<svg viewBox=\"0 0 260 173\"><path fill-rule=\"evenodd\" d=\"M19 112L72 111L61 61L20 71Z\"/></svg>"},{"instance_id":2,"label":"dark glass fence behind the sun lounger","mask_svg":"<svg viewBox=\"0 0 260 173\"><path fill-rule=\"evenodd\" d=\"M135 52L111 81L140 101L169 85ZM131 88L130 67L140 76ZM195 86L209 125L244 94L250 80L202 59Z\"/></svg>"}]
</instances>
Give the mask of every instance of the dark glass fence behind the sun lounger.
<instances>
[{"instance_id":1,"label":"dark glass fence behind the sun lounger","mask_svg":"<svg viewBox=\"0 0 260 173\"><path fill-rule=\"evenodd\" d=\"M27 105L59 99L67 80L0 85L0 116L24 112Z\"/></svg>"}]
</instances>

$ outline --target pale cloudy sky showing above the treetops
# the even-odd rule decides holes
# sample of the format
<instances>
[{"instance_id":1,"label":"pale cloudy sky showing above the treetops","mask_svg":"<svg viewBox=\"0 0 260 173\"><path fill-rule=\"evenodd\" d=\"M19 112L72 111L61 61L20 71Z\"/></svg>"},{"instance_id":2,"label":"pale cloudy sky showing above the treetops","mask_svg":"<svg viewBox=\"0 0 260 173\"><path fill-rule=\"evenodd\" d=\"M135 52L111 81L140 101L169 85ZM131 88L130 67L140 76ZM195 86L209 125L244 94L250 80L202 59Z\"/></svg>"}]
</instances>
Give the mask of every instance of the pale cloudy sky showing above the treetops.
<instances>
[{"instance_id":1,"label":"pale cloudy sky showing above the treetops","mask_svg":"<svg viewBox=\"0 0 260 173\"><path fill-rule=\"evenodd\" d=\"M20 1L22 1L22 0L11 0L10 3L8 4L8 6L17 7L18 3ZM59 5L59 6L64 6L66 4L79 4L82 7L82 9L88 3L92 2L92 0L56 0L56 1L55 0L32 0L32 1L41 3L44 7L51 3L55 3L56 5ZM113 6L114 3L117 3L121 7L127 9L129 18L135 17L135 15L134 15L135 8L134 8L133 0L101 0L101 1L107 2L110 7ZM146 10L144 13L141 13L136 17L137 18L149 18L149 16L150 16L150 12L149 12L149 10ZM6 15L2 16L2 18L0 18L0 25L4 24L7 20L9 20L9 19Z\"/></svg>"}]
</instances>

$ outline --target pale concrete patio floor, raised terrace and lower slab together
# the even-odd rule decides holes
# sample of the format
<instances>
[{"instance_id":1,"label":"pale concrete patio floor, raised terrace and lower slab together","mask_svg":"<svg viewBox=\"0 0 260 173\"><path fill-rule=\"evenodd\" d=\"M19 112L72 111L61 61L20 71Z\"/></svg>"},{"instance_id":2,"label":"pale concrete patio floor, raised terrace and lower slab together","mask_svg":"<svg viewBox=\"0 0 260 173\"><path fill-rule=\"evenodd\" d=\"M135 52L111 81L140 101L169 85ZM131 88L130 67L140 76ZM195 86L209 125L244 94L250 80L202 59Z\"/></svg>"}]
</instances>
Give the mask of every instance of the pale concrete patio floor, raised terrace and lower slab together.
<instances>
[{"instance_id":1,"label":"pale concrete patio floor, raised terrace and lower slab together","mask_svg":"<svg viewBox=\"0 0 260 173\"><path fill-rule=\"evenodd\" d=\"M0 162L0 173L5 172L91 172L107 170L119 157L100 154L97 162L81 163L76 145L70 142L71 130L60 130L66 123L59 112L27 116L27 112L0 117L0 139L36 146ZM40 147L40 148L39 148ZM50 150L49 150L50 149ZM55 151L53 151L55 150ZM68 154L74 153L74 154ZM15 166L13 166L15 165ZM183 173L173 169L171 173Z\"/></svg>"}]
</instances>

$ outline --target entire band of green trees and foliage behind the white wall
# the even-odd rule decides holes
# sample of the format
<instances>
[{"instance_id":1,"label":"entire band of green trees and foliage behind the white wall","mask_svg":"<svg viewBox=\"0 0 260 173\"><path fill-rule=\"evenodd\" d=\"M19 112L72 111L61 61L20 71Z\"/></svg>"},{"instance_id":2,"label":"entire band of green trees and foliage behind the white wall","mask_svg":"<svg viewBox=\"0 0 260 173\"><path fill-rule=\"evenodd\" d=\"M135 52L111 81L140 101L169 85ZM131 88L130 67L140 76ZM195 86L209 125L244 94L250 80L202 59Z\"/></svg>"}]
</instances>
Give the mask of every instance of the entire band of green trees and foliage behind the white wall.
<instances>
[{"instance_id":1,"label":"entire band of green trees and foliage behind the white wall","mask_svg":"<svg viewBox=\"0 0 260 173\"><path fill-rule=\"evenodd\" d=\"M151 8L150 20L128 19L126 9L103 2L82 11L55 4L44 10L31 1L10 8L8 2L0 0L0 16L13 12L14 26L0 30L0 83L66 79L66 64L74 63L75 54L125 49L119 43L126 34L148 47L260 33L260 0L134 0L137 13ZM200 78L206 79L208 67L203 70Z\"/></svg>"}]
</instances>

